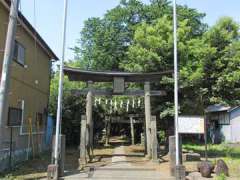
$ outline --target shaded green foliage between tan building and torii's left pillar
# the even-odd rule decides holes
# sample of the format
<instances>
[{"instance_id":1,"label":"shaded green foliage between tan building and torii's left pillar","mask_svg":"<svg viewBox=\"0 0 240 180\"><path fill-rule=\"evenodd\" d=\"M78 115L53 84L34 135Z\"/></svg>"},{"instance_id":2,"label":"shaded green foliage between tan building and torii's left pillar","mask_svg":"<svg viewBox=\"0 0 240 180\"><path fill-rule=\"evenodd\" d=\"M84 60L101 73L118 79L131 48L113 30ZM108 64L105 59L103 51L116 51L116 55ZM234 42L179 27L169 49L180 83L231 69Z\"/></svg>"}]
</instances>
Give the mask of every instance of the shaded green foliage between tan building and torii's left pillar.
<instances>
[{"instance_id":1,"label":"shaded green foliage between tan building and torii's left pillar","mask_svg":"<svg viewBox=\"0 0 240 180\"><path fill-rule=\"evenodd\" d=\"M58 97L59 73L55 73L51 80L49 111L56 119L57 114L57 97ZM80 131L81 115L85 112L85 99L72 95L71 90L84 87L82 83L69 82L67 77L64 78L62 99L62 132L66 135L67 143L78 144L79 136L73 137L73 132ZM77 123L76 123L77 122Z\"/></svg>"}]
</instances>

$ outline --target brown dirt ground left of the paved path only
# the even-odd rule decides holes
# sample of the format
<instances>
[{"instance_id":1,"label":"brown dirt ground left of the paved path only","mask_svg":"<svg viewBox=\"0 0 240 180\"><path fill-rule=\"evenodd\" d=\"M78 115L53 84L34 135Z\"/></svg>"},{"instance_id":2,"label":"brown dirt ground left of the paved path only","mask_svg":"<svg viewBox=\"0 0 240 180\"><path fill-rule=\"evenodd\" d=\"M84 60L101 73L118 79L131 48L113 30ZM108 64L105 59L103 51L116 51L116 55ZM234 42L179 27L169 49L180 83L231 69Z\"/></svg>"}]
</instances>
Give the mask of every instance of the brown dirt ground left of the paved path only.
<instances>
[{"instance_id":1,"label":"brown dirt ground left of the paved path only","mask_svg":"<svg viewBox=\"0 0 240 180\"><path fill-rule=\"evenodd\" d=\"M87 167L104 166L111 163L113 149L116 145L123 143L122 140L115 142L113 138L113 145L104 147L99 145L94 149L94 160L89 162ZM76 171L79 168L78 164L79 150L77 147L67 147L65 157L66 172ZM47 177L47 166L51 164L51 153L43 153L40 157L22 162L18 164L13 171L6 171L0 174L0 180L35 180L44 179Z\"/></svg>"}]
</instances>

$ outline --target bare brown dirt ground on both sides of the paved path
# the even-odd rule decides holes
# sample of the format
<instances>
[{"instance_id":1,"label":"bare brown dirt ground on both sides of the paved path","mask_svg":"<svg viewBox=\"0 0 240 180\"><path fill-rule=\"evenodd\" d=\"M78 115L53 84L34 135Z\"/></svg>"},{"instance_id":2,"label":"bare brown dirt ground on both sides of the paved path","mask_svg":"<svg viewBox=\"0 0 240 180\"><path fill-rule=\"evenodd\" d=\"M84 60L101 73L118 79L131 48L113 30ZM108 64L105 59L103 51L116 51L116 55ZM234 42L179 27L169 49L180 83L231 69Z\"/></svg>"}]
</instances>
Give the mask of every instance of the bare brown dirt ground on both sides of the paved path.
<instances>
[{"instance_id":1,"label":"bare brown dirt ground on both sides of the paved path","mask_svg":"<svg viewBox=\"0 0 240 180\"><path fill-rule=\"evenodd\" d=\"M141 145L126 146L126 141L119 137L113 137L110 145L105 147L102 144L94 149L94 160L89 162L86 168L101 167L111 164L114 148L125 144L125 153L127 161L133 166L148 167L164 173L170 174L168 155L160 157L159 162L151 162L144 155L144 147ZM79 170L78 164L79 150L77 147L70 147L66 150L65 170L72 172ZM14 171L0 175L0 179L33 180L46 178L46 170L51 162L50 153L44 153L41 157L19 164ZM197 170L197 162L184 162L187 172ZM231 172L232 170L230 170ZM239 173L239 172L238 172ZM236 177L236 176L235 176ZM237 178L236 178L237 180Z\"/></svg>"}]
</instances>

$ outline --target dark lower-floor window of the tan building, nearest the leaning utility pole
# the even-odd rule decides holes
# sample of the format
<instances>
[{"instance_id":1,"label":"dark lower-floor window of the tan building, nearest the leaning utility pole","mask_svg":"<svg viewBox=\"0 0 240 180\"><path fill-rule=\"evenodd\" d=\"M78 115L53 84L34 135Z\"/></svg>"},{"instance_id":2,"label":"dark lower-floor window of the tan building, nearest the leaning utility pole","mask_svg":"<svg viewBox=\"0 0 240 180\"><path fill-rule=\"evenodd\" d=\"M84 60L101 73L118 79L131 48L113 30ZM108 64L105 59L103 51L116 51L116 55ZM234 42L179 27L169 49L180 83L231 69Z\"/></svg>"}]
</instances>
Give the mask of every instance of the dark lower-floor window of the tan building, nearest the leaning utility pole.
<instances>
[{"instance_id":1,"label":"dark lower-floor window of the tan building, nearest the leaning utility pole","mask_svg":"<svg viewBox=\"0 0 240 180\"><path fill-rule=\"evenodd\" d=\"M20 126L22 121L22 110L10 107L8 110L8 126Z\"/></svg>"}]
</instances>

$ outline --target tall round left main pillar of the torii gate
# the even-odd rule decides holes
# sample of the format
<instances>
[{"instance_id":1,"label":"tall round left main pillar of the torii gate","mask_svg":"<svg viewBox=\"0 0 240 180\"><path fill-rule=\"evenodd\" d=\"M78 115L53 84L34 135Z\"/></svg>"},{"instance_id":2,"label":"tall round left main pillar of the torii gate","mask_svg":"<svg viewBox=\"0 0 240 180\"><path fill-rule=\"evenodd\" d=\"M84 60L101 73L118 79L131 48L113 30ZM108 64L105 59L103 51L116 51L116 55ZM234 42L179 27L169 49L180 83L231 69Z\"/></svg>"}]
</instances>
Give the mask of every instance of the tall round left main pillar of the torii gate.
<instances>
[{"instance_id":1,"label":"tall round left main pillar of the torii gate","mask_svg":"<svg viewBox=\"0 0 240 180\"><path fill-rule=\"evenodd\" d=\"M92 151L93 155L93 119L92 119L92 105L93 105L93 93L92 93L92 81L88 82L89 91L87 93L87 103L86 103L86 116L87 116L87 145L89 149L89 156L90 150ZM91 159L91 157L89 157Z\"/></svg>"}]
</instances>

